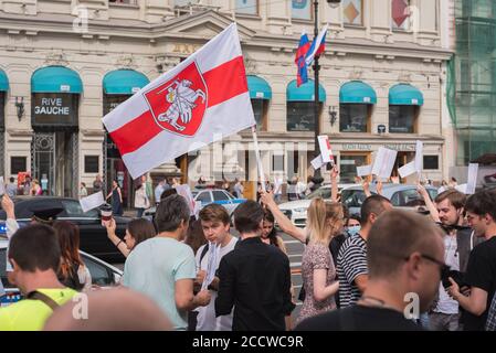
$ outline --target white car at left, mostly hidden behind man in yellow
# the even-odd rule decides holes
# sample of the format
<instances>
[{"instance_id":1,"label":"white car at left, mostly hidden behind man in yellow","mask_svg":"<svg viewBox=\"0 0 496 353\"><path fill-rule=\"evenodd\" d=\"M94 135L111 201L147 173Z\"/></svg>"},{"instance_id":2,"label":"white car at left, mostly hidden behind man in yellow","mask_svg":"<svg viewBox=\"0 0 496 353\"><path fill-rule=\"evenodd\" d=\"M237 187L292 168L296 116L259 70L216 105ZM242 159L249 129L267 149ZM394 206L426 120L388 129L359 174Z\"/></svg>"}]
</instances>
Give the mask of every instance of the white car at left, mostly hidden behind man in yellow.
<instances>
[{"instance_id":1,"label":"white car at left, mostly hidden behind man in yellow","mask_svg":"<svg viewBox=\"0 0 496 353\"><path fill-rule=\"evenodd\" d=\"M9 284L7 279L7 238L0 238L0 279L6 290L4 293L0 293L0 307L9 306L22 299L20 290ZM92 274L92 282L94 286L106 288L120 282L120 278L123 277L122 270L85 252L80 252L80 254L89 274Z\"/></svg>"}]
</instances>

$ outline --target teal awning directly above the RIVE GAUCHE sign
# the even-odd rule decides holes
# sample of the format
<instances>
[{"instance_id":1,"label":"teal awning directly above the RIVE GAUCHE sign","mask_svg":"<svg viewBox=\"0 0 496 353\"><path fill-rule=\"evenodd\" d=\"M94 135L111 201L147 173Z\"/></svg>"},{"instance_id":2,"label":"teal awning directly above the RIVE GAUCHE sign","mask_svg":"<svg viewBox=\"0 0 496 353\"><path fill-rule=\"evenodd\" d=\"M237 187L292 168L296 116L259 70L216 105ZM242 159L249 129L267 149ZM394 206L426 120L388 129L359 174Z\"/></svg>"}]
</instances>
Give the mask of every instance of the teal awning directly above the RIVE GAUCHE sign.
<instances>
[{"instance_id":1,"label":"teal awning directly above the RIVE GAUCHE sign","mask_svg":"<svg viewBox=\"0 0 496 353\"><path fill-rule=\"evenodd\" d=\"M32 93L83 93L80 75L64 66L39 68L31 76Z\"/></svg>"}]
</instances>

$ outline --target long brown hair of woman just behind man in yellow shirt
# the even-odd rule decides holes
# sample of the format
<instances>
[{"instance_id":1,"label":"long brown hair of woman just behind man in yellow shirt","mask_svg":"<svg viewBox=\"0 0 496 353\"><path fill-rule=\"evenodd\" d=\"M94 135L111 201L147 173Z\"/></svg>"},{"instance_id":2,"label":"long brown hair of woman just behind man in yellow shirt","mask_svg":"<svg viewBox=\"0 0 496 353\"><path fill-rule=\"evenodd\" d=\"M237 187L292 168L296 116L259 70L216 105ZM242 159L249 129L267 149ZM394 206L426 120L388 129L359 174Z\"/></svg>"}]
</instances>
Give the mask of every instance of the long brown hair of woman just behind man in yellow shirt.
<instances>
[{"instance_id":1,"label":"long brown hair of woman just behind man in yellow shirt","mask_svg":"<svg viewBox=\"0 0 496 353\"><path fill-rule=\"evenodd\" d=\"M84 265L80 255L80 228L67 221L55 222L53 228L61 246L61 275L63 278L74 276L74 266Z\"/></svg>"}]
</instances>

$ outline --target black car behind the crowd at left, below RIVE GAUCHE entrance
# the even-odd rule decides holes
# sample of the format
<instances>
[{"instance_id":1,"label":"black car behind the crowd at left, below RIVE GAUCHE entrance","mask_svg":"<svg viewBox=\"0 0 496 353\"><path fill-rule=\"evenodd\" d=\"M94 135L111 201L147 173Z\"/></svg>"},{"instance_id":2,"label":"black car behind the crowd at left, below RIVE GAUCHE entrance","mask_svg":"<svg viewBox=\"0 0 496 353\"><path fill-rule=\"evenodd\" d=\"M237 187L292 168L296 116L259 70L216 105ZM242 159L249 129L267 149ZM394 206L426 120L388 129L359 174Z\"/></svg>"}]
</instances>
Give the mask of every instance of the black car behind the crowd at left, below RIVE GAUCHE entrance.
<instances>
[{"instance_id":1,"label":"black car behind the crowd at left, below RIVE GAUCHE entrance","mask_svg":"<svg viewBox=\"0 0 496 353\"><path fill-rule=\"evenodd\" d=\"M53 204L62 204L63 211L56 216L59 221L70 221L80 227L81 249L104 261L115 264L124 263L125 258L107 237L107 231L102 226L98 210L83 212L80 201L75 199L54 196L19 196L13 199L15 220L22 226L31 222L32 210L50 207ZM0 210L0 233L6 232L6 212ZM116 234L124 238L129 217L114 216L117 224Z\"/></svg>"}]
</instances>

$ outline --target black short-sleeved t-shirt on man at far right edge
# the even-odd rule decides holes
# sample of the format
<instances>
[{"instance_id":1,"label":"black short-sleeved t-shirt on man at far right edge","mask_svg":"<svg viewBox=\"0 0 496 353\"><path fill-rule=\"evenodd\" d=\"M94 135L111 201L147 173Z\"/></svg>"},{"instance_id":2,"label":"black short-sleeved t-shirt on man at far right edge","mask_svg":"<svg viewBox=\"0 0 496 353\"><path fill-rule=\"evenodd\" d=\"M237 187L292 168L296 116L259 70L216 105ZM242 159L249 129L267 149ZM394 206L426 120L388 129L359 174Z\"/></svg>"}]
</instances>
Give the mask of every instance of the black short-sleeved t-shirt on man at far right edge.
<instances>
[{"instance_id":1,"label":"black short-sleeved t-shirt on man at far right edge","mask_svg":"<svg viewBox=\"0 0 496 353\"><path fill-rule=\"evenodd\" d=\"M486 324L490 301L496 291L496 236L478 244L468 258L465 281L471 287L477 287L487 292L486 310L481 315L466 312L464 329L467 331L482 331Z\"/></svg>"}]
</instances>

